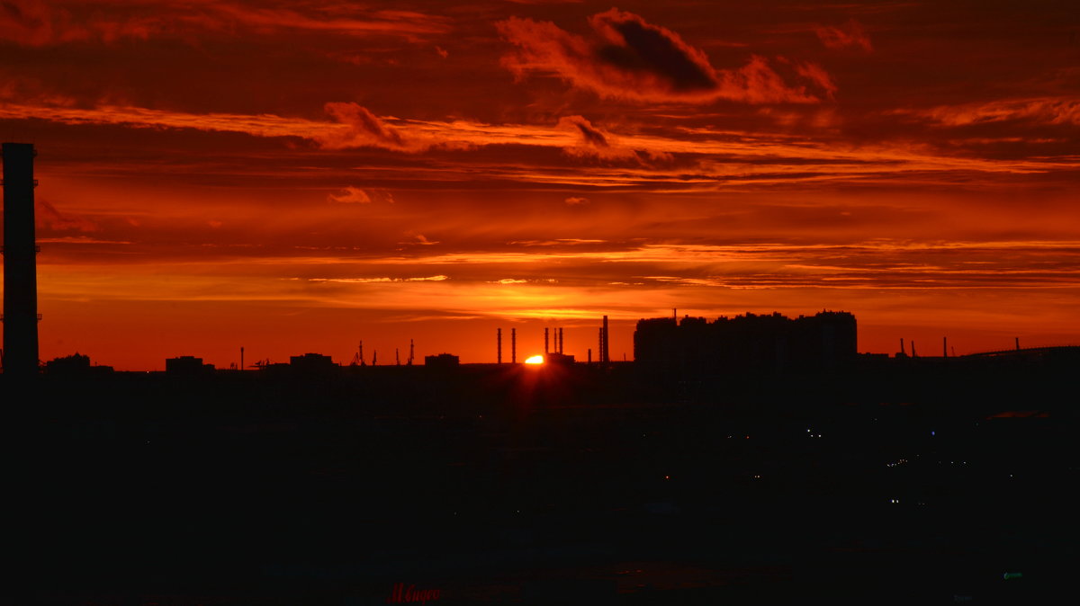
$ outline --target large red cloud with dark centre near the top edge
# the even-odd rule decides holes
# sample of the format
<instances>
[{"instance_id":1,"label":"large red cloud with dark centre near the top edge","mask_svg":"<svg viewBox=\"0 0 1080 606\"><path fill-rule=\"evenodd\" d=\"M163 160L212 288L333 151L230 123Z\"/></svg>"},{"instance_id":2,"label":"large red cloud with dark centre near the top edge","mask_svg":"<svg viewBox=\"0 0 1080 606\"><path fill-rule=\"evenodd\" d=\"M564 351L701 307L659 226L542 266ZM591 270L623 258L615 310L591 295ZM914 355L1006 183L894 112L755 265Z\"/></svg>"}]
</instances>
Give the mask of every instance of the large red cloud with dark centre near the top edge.
<instances>
[{"instance_id":1,"label":"large red cloud with dark centre near the top edge","mask_svg":"<svg viewBox=\"0 0 1080 606\"><path fill-rule=\"evenodd\" d=\"M716 69L705 53L678 33L648 24L633 13L611 9L589 18L591 40L550 22L511 17L497 24L517 52L503 65L518 77L557 73L575 86L604 97L646 101L707 102L715 99L762 102L816 102L821 78L789 85L764 57L754 56L739 69ZM816 72L824 73L813 66ZM809 69L809 68L807 68ZM828 89L821 91L825 95Z\"/></svg>"}]
</instances>

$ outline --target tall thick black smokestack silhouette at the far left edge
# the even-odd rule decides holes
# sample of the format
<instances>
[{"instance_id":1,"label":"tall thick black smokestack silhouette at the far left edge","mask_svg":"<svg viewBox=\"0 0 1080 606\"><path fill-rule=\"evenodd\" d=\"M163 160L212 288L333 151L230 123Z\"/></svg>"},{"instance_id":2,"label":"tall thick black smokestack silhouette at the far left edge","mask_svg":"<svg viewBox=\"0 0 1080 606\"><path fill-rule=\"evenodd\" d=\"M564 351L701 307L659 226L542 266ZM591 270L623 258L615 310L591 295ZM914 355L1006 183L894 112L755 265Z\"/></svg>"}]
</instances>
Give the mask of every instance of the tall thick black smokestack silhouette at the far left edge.
<instances>
[{"instance_id":1,"label":"tall thick black smokestack silhouette at the far left edge","mask_svg":"<svg viewBox=\"0 0 1080 606\"><path fill-rule=\"evenodd\" d=\"M3 371L38 373L32 143L3 143Z\"/></svg>"}]
</instances>

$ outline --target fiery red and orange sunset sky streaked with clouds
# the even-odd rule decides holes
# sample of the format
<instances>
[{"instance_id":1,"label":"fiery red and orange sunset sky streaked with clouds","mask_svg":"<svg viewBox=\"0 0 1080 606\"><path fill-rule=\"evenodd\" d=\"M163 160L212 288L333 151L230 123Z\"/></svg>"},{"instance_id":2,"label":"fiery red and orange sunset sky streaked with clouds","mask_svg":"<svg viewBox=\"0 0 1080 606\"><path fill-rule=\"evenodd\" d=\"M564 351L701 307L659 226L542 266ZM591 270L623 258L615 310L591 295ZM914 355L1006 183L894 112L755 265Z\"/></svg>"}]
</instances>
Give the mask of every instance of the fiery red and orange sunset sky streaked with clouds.
<instances>
[{"instance_id":1,"label":"fiery red and orange sunset sky streaked with clouds","mask_svg":"<svg viewBox=\"0 0 1080 606\"><path fill-rule=\"evenodd\" d=\"M1080 343L1074 2L0 1L41 358Z\"/></svg>"}]
</instances>

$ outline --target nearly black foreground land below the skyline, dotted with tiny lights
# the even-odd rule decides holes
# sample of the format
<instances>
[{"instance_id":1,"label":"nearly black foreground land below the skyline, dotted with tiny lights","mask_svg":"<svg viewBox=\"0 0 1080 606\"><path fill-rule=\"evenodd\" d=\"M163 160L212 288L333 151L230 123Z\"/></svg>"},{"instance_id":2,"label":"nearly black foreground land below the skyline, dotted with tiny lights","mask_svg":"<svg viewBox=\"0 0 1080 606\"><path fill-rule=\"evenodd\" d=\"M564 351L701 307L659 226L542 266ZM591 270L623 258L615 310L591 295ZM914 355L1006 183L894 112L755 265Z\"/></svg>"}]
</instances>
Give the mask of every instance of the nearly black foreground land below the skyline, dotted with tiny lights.
<instances>
[{"instance_id":1,"label":"nearly black foreground land below the skyline, dotted with tiny lights","mask_svg":"<svg viewBox=\"0 0 1080 606\"><path fill-rule=\"evenodd\" d=\"M1074 598L1059 369L428 371L4 384L15 603Z\"/></svg>"}]
</instances>

